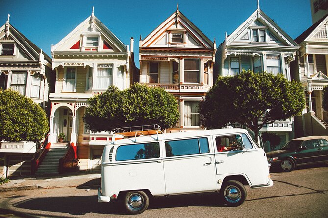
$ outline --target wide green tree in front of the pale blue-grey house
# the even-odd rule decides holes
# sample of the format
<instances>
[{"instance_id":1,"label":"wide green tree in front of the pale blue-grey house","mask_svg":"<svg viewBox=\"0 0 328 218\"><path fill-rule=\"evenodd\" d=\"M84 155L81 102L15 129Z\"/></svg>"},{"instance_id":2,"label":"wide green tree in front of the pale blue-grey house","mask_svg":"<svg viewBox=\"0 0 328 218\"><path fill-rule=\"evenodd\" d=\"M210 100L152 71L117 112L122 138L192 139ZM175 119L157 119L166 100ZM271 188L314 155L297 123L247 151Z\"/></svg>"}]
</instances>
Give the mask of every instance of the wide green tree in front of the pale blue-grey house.
<instances>
[{"instance_id":1,"label":"wide green tree in front of the pale blue-grey house","mask_svg":"<svg viewBox=\"0 0 328 218\"><path fill-rule=\"evenodd\" d=\"M250 128L257 138L265 124L288 119L304 108L300 83L289 82L282 74L243 70L235 76L218 77L200 103L200 119L208 129L237 122Z\"/></svg>"}]
</instances>

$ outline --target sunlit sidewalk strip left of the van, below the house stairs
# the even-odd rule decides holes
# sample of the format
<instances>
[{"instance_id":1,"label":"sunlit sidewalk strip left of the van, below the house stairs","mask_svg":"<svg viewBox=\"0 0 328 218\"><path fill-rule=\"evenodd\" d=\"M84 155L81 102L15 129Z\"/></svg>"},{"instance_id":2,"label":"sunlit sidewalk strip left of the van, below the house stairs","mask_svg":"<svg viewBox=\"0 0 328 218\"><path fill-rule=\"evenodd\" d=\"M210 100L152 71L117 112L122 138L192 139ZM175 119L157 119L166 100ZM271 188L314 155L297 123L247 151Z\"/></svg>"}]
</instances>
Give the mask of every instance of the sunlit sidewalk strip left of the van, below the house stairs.
<instances>
[{"instance_id":1,"label":"sunlit sidewalk strip left of the van, below the house stairs","mask_svg":"<svg viewBox=\"0 0 328 218\"><path fill-rule=\"evenodd\" d=\"M9 182L0 185L1 192L38 189L77 187L88 188L100 186L101 174L65 173L43 176L12 177Z\"/></svg>"}]
</instances>

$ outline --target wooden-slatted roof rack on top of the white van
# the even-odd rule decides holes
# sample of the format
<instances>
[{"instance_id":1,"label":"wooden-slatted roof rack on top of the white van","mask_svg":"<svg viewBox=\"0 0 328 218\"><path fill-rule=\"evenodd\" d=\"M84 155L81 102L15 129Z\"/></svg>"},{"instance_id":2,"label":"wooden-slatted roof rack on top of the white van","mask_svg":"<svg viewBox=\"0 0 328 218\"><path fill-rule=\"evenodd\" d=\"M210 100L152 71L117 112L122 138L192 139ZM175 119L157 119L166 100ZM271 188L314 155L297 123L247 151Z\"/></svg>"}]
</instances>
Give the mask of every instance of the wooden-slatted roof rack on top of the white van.
<instances>
[{"instance_id":1,"label":"wooden-slatted roof rack on top of the white van","mask_svg":"<svg viewBox=\"0 0 328 218\"><path fill-rule=\"evenodd\" d=\"M116 129L116 132L113 135L113 144L115 144L115 135L122 135L124 138L134 138L134 142L137 142L137 136L145 135L154 135L162 134L162 129L158 124L151 125L142 125L142 126L133 126L133 127L120 127Z\"/></svg>"}]
</instances>

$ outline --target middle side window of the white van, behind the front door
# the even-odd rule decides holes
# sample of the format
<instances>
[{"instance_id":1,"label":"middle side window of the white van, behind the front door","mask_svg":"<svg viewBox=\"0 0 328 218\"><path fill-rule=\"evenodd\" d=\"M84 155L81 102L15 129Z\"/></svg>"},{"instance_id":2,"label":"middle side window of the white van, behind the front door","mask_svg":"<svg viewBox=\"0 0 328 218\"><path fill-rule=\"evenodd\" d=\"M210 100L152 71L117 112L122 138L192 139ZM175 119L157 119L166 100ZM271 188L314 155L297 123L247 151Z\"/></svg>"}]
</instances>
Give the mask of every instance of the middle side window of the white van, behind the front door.
<instances>
[{"instance_id":1,"label":"middle side window of the white van, behind the front door","mask_svg":"<svg viewBox=\"0 0 328 218\"><path fill-rule=\"evenodd\" d=\"M208 139L193 138L166 141L165 151L167 157L209 153Z\"/></svg>"}]
</instances>

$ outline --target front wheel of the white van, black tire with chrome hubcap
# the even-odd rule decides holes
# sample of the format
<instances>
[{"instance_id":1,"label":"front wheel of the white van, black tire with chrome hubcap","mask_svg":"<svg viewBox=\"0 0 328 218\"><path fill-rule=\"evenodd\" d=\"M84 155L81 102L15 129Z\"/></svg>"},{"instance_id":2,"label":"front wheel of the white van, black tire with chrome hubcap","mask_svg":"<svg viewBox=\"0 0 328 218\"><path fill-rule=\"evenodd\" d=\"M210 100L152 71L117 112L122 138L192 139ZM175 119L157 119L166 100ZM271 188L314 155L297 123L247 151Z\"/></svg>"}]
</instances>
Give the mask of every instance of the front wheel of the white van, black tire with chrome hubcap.
<instances>
[{"instance_id":1,"label":"front wheel of the white van, black tire with chrome hubcap","mask_svg":"<svg viewBox=\"0 0 328 218\"><path fill-rule=\"evenodd\" d=\"M224 204L237 207L244 203L247 197L245 186L235 180L225 182L220 190L220 198Z\"/></svg>"}]
</instances>

